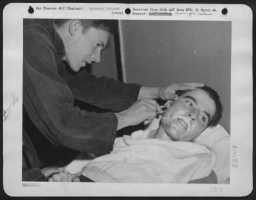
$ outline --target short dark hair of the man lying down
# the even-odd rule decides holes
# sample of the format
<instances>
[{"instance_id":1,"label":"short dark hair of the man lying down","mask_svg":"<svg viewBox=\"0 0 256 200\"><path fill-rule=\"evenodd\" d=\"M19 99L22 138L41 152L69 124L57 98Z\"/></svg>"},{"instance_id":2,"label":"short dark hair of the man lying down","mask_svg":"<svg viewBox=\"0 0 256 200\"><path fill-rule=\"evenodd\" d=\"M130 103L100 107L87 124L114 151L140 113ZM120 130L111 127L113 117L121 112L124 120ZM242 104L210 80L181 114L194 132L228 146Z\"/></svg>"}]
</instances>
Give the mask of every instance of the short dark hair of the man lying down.
<instances>
[{"instance_id":1,"label":"short dark hair of the man lying down","mask_svg":"<svg viewBox=\"0 0 256 200\"><path fill-rule=\"evenodd\" d=\"M209 97L214 101L214 103L216 105L216 112L214 113L209 124L207 125L207 127L214 127L220 122L220 119L222 117L223 106L220 101L220 96L218 95L218 93L215 90L213 90L209 86L204 85L204 87L200 87L200 89L204 90L209 95ZM178 96L181 96L182 94L184 94L187 91L189 91L189 90L179 90L176 92L176 94Z\"/></svg>"}]
</instances>

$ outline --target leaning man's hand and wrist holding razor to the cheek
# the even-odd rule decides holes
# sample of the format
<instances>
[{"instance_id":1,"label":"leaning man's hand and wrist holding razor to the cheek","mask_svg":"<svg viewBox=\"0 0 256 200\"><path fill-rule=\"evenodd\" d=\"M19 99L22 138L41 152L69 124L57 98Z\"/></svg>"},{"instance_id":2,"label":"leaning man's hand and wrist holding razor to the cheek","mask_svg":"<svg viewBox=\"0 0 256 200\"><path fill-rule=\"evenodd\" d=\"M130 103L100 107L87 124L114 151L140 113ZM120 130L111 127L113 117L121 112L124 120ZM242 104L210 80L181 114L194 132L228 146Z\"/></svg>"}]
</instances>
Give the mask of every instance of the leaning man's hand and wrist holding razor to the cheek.
<instances>
[{"instance_id":1,"label":"leaning man's hand and wrist holding razor to the cheek","mask_svg":"<svg viewBox=\"0 0 256 200\"><path fill-rule=\"evenodd\" d=\"M157 113L163 113L163 110L155 100L141 98L127 110L116 113L118 129L129 125L138 125L141 122L148 124L156 117Z\"/></svg>"}]
</instances>

